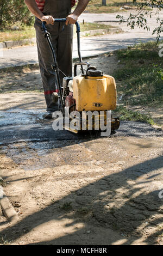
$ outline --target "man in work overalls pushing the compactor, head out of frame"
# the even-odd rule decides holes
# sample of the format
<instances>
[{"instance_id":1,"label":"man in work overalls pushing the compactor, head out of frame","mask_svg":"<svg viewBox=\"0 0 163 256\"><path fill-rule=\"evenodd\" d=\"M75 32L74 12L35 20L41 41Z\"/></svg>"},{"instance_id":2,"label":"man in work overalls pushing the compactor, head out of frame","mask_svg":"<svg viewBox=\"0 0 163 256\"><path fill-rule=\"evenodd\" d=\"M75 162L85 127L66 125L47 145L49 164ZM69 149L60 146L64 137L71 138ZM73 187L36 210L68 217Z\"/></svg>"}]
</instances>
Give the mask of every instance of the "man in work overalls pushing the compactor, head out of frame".
<instances>
[{"instance_id":1,"label":"man in work overalls pushing the compactor, head out of frame","mask_svg":"<svg viewBox=\"0 0 163 256\"><path fill-rule=\"evenodd\" d=\"M24 0L28 9L35 16L34 27L36 30L37 52L39 67L43 83L43 90L47 105L47 112L43 118L52 118L53 112L58 110L58 103L52 102L52 93L58 92L55 84L54 71L52 70L52 54L47 41L41 31L41 22L46 21L47 29L51 33L52 44L57 55L59 69L66 75L72 76L72 40L73 24L83 13L90 0L79 0L77 7L71 13L71 8L76 0ZM54 19L67 18L64 22L56 22ZM60 79L65 76L60 72Z\"/></svg>"}]
</instances>

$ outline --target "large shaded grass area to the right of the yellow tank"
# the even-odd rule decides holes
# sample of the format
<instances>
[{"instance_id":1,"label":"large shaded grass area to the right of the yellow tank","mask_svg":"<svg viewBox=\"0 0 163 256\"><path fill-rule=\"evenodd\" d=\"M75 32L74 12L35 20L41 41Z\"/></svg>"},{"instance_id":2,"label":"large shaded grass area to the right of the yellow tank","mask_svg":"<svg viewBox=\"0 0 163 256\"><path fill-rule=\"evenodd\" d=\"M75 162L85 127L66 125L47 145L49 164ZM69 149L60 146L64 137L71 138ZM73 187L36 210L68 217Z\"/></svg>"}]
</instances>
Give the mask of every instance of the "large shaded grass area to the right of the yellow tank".
<instances>
[{"instance_id":1,"label":"large shaded grass area to the right of the yellow tank","mask_svg":"<svg viewBox=\"0 0 163 256\"><path fill-rule=\"evenodd\" d=\"M120 60L113 76L125 105L163 105L163 63L156 42L116 51Z\"/></svg>"}]
</instances>

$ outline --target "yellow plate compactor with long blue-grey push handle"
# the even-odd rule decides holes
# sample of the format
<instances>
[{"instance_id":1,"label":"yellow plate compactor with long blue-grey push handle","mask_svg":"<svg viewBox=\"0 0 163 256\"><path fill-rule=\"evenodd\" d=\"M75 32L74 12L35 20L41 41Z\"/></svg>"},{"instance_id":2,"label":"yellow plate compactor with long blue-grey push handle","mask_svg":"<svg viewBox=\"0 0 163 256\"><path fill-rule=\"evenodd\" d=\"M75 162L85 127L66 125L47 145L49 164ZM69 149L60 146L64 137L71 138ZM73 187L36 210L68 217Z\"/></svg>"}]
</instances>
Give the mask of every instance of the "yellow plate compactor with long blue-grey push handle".
<instances>
[{"instance_id":1,"label":"yellow plate compactor with long blue-grey push handle","mask_svg":"<svg viewBox=\"0 0 163 256\"><path fill-rule=\"evenodd\" d=\"M55 22L64 22L66 19L55 19ZM52 95L53 102L60 102L60 109L65 115L65 107L69 109L70 121L74 117L71 117L71 112L77 111L80 113L80 129L83 130L82 123L82 113L83 112L93 112L99 113L98 120L102 120L100 115L103 115L104 124L106 125L107 121L107 112L114 110L116 108L116 83L115 79L112 76L104 75L101 70L97 70L95 67L90 66L89 63L83 62L80 54L80 26L76 22L77 26L77 39L78 39L78 55L79 62L74 64L74 77L64 77L62 86L59 76L59 67L57 59L55 57L55 51L51 43L51 36L46 28L46 22L42 22L42 31L45 34L45 38L48 41L48 45L51 48L53 61L52 69L55 74L55 80L57 83L57 92L54 92ZM63 27L64 28L64 27ZM86 65L86 72L84 71L83 66ZM81 67L82 74L77 75L77 66ZM119 118L113 118L111 116L111 131L115 131L120 126ZM99 125L100 128L100 125ZM70 127L65 126L66 130L77 133L77 129L70 129ZM85 130L95 129L95 117L92 122L92 127L89 127L88 121L86 121ZM96 129L95 129L96 130Z\"/></svg>"}]
</instances>

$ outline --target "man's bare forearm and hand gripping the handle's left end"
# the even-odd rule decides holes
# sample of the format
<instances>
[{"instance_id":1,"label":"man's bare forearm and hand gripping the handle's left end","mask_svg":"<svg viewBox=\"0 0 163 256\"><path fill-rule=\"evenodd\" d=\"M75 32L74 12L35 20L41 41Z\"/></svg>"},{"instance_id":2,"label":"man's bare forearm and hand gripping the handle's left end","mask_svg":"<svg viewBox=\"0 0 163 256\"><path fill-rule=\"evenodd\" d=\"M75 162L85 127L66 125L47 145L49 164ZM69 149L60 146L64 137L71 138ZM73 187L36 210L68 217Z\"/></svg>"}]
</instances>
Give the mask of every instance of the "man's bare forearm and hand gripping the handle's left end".
<instances>
[{"instance_id":1,"label":"man's bare forearm and hand gripping the handle's left end","mask_svg":"<svg viewBox=\"0 0 163 256\"><path fill-rule=\"evenodd\" d=\"M54 18L51 15L44 15L41 13L35 0L24 0L24 3L27 5L30 12L35 15L41 21L46 21L47 24L54 24Z\"/></svg>"}]
</instances>

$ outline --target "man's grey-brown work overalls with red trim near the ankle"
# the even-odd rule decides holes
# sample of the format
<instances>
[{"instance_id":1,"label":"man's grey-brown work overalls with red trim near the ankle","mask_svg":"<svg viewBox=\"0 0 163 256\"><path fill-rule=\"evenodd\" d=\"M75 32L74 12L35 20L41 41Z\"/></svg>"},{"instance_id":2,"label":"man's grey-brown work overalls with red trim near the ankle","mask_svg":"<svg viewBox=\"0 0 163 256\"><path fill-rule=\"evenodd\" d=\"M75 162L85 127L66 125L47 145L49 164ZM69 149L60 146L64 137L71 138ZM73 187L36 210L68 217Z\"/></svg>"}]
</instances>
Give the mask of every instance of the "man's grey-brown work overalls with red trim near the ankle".
<instances>
[{"instance_id":1,"label":"man's grey-brown work overalls with red trim near the ankle","mask_svg":"<svg viewBox=\"0 0 163 256\"><path fill-rule=\"evenodd\" d=\"M65 18L71 13L71 1L68 0L46 0L43 10L45 15L52 15L54 19ZM39 66L42 77L43 90L47 111L56 111L58 104L52 102L52 93L58 92L55 73L52 70L53 58L48 42L41 30L41 21L35 18L37 51ZM57 56L59 69L66 76L72 76L72 41L73 26L65 25L65 22L54 22L54 25L46 25L47 31L51 34L52 45ZM60 72L60 81L65 76Z\"/></svg>"}]
</instances>

